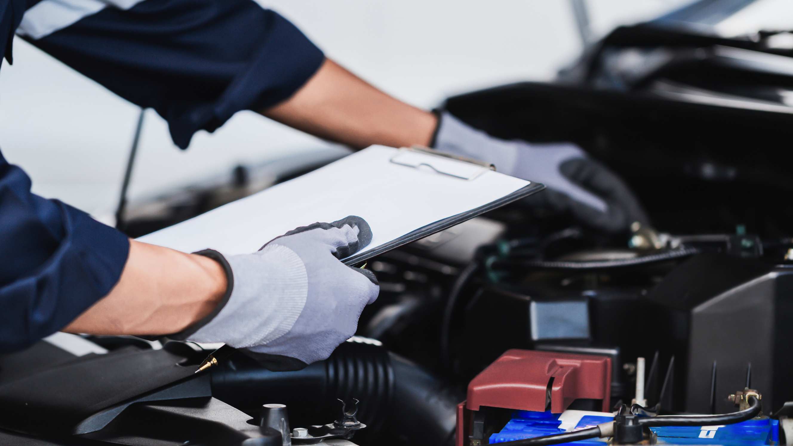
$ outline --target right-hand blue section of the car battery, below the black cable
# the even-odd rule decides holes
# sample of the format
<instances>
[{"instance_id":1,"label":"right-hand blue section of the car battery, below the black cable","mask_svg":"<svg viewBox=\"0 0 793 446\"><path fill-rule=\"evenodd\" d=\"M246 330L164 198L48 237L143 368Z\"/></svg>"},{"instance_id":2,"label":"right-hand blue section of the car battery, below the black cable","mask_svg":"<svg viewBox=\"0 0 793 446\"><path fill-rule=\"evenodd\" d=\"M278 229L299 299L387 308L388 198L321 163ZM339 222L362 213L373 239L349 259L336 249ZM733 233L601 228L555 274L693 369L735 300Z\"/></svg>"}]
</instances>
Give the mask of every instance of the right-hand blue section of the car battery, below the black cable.
<instances>
[{"instance_id":1,"label":"right-hand blue section of the car battery, below the black cable","mask_svg":"<svg viewBox=\"0 0 793 446\"><path fill-rule=\"evenodd\" d=\"M780 422L765 417L726 426L668 426L650 430L658 436L658 443L665 444L765 446L780 442Z\"/></svg>"}]
</instances>

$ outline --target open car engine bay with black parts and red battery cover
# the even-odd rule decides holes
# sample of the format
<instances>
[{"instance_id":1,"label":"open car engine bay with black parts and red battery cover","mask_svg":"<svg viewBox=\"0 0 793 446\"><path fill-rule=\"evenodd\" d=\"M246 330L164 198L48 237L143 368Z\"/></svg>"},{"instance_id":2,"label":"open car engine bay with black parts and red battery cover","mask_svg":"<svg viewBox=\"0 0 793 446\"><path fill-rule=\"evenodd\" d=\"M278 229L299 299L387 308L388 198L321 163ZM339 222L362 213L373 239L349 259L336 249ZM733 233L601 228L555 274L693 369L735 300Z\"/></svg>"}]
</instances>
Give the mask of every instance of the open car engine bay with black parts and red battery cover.
<instances>
[{"instance_id":1,"label":"open car engine bay with black parts and red battery cover","mask_svg":"<svg viewBox=\"0 0 793 446\"><path fill-rule=\"evenodd\" d=\"M491 135L584 147L653 227L508 206L381 254L357 336L297 372L235 353L194 373L215 346L56 334L0 356L0 444L793 444L793 48L769 36L623 27L557 82L445 101ZM344 153L131 203L124 229Z\"/></svg>"}]
</instances>

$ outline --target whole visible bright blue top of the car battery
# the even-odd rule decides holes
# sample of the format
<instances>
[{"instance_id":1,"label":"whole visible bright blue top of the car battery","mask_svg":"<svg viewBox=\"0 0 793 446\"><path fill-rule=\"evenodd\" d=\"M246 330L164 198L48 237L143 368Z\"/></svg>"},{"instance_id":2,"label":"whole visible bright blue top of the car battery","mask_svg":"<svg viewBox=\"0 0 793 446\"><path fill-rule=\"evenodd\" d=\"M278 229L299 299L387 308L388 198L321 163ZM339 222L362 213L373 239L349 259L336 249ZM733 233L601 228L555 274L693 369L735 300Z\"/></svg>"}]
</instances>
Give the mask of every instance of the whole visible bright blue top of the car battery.
<instances>
[{"instance_id":1,"label":"whole visible bright blue top of the car battery","mask_svg":"<svg viewBox=\"0 0 793 446\"><path fill-rule=\"evenodd\" d=\"M490 436L490 444L523 440L535 436L563 433L559 429L560 414L550 412L531 412L519 410L501 432ZM586 429L611 421L612 417L584 415L574 430ZM773 446L780 442L780 423L777 420L761 418L726 426L668 426L650 428L658 436L659 444L713 444L722 446ZM573 441L565 444L581 446L603 446L605 439Z\"/></svg>"}]
</instances>

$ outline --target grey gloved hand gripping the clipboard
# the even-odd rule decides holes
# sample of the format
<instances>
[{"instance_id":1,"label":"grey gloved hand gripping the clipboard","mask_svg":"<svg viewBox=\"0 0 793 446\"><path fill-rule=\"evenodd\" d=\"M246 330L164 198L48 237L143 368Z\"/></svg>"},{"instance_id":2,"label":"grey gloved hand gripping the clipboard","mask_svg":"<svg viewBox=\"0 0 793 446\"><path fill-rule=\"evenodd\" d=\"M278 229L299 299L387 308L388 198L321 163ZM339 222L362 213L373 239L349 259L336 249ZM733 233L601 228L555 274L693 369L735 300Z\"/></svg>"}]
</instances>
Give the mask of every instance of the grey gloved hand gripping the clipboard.
<instances>
[{"instance_id":1,"label":"grey gloved hand gripping the clipboard","mask_svg":"<svg viewBox=\"0 0 793 446\"><path fill-rule=\"evenodd\" d=\"M339 261L371 239L369 224L348 216L298 227L228 261L216 251L202 251L231 272L231 292L213 314L179 337L246 349L274 371L299 370L328 358L355 334L363 307L380 291L374 273Z\"/></svg>"}]
</instances>

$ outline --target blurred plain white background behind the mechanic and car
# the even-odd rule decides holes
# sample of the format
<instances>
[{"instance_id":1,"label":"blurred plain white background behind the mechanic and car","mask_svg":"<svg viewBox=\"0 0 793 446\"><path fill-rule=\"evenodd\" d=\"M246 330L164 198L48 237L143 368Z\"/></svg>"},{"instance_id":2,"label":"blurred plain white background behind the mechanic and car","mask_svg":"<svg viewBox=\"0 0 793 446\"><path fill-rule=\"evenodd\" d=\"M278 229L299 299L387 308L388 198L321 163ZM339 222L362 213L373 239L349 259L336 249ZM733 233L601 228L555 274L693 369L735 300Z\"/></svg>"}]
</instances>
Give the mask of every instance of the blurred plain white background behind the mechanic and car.
<instances>
[{"instance_id":1,"label":"blurred plain white background behind the mechanic and car","mask_svg":"<svg viewBox=\"0 0 793 446\"><path fill-rule=\"evenodd\" d=\"M326 54L404 101L444 97L520 80L550 79L581 44L561 0L269 0ZM589 0L596 35L680 5L681 0ZM138 109L17 39L0 71L0 147L33 178L33 190L94 215L116 204ZM148 112L132 197L261 162L324 142L252 112L239 112L188 151Z\"/></svg>"}]
</instances>

